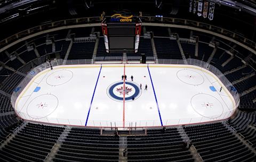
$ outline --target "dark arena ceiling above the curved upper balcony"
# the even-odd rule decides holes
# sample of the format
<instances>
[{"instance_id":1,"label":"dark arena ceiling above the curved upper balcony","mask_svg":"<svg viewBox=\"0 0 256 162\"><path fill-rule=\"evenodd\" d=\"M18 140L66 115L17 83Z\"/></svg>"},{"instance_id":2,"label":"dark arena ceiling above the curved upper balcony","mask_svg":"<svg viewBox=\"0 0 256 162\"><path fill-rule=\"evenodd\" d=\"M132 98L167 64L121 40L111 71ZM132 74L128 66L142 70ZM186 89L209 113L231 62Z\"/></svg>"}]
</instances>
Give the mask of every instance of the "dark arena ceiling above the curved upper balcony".
<instances>
[{"instance_id":1,"label":"dark arena ceiling above the curved upper balcony","mask_svg":"<svg viewBox=\"0 0 256 162\"><path fill-rule=\"evenodd\" d=\"M212 21L189 13L189 0L0 0L0 39L44 22L99 16L102 11L109 15L116 12L134 15L141 11L143 15L163 15L217 25L255 40L256 14L252 12L256 8L255 1L208 1L215 3ZM245 10L245 6L251 10Z\"/></svg>"}]
</instances>

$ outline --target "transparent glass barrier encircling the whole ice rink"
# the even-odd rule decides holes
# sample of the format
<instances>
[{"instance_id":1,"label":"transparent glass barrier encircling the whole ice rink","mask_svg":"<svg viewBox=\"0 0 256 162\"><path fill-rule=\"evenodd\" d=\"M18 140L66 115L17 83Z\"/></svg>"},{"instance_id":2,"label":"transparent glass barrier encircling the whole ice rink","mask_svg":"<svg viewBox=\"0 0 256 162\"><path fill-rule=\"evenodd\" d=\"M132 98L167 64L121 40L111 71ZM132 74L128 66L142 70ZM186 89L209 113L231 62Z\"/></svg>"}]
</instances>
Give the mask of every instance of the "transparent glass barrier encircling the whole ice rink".
<instances>
[{"instance_id":1,"label":"transparent glass barrier encircling the whole ice rink","mask_svg":"<svg viewBox=\"0 0 256 162\"><path fill-rule=\"evenodd\" d=\"M58 66L63 64L63 59L55 59L51 61L52 66ZM114 61L113 61L114 63ZM180 59L158 59L159 64L185 64L184 60ZM223 75L216 67L205 63L203 61L199 61L197 59L186 59L186 63L188 65L196 65L201 67L202 69L208 70L218 76L219 80L223 83L223 85L226 86L228 91L231 93L235 100L236 107L239 105L239 94L237 93L236 89L232 86L232 84L229 82L229 80ZM74 64L91 64L91 59L79 59L79 60L67 60L66 65L74 65ZM16 88L17 90L12 93L11 97L11 104L13 107L15 107L15 102L22 92L23 89L28 85L31 79L34 78L39 72L42 72L46 69L50 68L49 63L43 63L37 67L35 67L33 70L31 70L25 79L23 79L19 86ZM15 108L14 108L15 109ZM219 121L224 120L226 118L229 118L231 115L233 115L235 110L230 110L223 112L222 114L213 115L213 116L207 116L207 117L194 117L194 118L177 118L177 119L170 119L170 120L163 120L163 125L169 126L169 125L183 125L183 124L195 124L195 123L204 123L204 122L212 122L212 121ZM36 122L42 122L42 123L53 123L53 124L64 124L64 125L77 125L77 126L84 126L86 120L77 120L77 119L64 119L64 118L51 118L51 117L43 117L41 118L38 114L36 117L30 117L27 113L15 112L24 120L30 120L30 121L36 121ZM210 118L210 119L209 119ZM136 127L147 127L147 126L161 126L159 123L159 120L147 120L147 121L126 121L125 125L126 127L129 127L129 124L136 125ZM87 125L89 126L95 126L95 127L111 127L115 125L115 127L120 127L123 125L123 121L100 121L100 120L89 120L87 121Z\"/></svg>"}]
</instances>

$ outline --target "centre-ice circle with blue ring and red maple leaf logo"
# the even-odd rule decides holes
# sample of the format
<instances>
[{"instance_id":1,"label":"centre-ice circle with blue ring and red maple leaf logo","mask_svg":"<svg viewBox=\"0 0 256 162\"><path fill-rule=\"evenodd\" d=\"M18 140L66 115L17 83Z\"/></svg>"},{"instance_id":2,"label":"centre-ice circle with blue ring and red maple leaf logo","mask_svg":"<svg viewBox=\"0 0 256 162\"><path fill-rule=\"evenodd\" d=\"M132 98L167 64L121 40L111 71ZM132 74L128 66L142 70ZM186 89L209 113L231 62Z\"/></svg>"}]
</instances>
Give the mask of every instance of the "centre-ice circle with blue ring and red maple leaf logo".
<instances>
[{"instance_id":1,"label":"centre-ice circle with blue ring and red maple leaf logo","mask_svg":"<svg viewBox=\"0 0 256 162\"><path fill-rule=\"evenodd\" d=\"M141 95L140 86L137 83L125 81L125 89L123 89L124 82L118 81L110 84L107 88L107 95L109 98L123 102L125 92L125 101L132 101L132 98L137 99Z\"/></svg>"}]
</instances>

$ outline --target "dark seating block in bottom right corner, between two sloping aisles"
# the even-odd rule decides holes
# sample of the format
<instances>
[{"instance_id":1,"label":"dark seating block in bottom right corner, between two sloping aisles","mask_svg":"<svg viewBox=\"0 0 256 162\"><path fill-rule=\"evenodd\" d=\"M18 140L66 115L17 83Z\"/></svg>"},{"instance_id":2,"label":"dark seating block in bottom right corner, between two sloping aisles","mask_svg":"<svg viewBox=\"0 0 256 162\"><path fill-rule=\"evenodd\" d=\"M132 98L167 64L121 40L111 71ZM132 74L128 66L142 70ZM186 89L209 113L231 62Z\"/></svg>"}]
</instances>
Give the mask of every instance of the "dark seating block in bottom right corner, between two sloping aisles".
<instances>
[{"instance_id":1,"label":"dark seating block in bottom right corner, between two sloping aisles","mask_svg":"<svg viewBox=\"0 0 256 162\"><path fill-rule=\"evenodd\" d=\"M252 161L256 158L222 123L184 126L184 129L204 161Z\"/></svg>"}]
</instances>

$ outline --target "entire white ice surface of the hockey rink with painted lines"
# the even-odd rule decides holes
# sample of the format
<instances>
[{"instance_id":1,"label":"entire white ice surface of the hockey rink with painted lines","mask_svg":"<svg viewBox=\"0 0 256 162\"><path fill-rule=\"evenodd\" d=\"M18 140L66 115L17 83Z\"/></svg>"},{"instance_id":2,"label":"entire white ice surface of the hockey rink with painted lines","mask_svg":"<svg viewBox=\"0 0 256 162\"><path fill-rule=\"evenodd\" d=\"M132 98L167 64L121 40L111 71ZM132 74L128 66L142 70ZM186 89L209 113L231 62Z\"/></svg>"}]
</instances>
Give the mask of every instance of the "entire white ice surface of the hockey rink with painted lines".
<instances>
[{"instance_id":1,"label":"entire white ice surface of the hockey rink with painted lines","mask_svg":"<svg viewBox=\"0 0 256 162\"><path fill-rule=\"evenodd\" d=\"M38 73L15 102L24 120L102 127L210 122L235 109L233 96L210 71L163 64L55 66Z\"/></svg>"}]
</instances>

